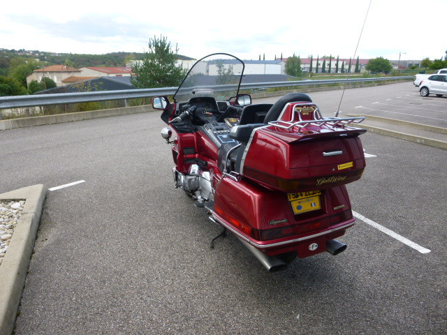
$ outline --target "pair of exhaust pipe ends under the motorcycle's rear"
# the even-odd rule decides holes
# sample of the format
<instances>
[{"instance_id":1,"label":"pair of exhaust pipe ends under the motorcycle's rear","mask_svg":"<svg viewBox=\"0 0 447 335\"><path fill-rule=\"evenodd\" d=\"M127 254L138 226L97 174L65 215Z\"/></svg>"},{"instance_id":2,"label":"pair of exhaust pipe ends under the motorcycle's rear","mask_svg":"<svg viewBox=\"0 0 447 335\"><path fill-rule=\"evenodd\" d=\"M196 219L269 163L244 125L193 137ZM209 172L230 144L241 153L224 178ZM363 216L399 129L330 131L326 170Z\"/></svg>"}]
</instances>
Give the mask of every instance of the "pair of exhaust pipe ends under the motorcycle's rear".
<instances>
[{"instance_id":1,"label":"pair of exhaust pipe ends under the motorcycle's rear","mask_svg":"<svg viewBox=\"0 0 447 335\"><path fill-rule=\"evenodd\" d=\"M286 269L286 267L292 262L292 260L296 257L290 258L288 257L288 260L285 260L284 258L281 258L279 256L269 256L265 255L262 251L255 248L251 244L249 244L247 241L244 241L240 237L237 237L241 243L249 249L249 251L261 262L261 264L267 269L269 272L276 272L276 271L282 271ZM332 255L338 255L339 253L342 253L346 250L346 244L337 241L337 239L331 239L330 241L326 242L326 251Z\"/></svg>"}]
</instances>

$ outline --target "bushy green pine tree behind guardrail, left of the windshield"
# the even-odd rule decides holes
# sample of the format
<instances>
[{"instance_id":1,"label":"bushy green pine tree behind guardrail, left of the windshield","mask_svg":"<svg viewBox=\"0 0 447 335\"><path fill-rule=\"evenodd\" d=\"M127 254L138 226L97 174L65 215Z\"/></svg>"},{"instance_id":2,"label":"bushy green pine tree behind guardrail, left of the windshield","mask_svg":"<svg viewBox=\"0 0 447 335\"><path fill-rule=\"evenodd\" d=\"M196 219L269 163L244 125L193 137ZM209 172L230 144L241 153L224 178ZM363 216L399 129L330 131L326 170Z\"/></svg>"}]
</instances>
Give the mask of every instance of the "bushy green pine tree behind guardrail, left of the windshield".
<instances>
[{"instance_id":1,"label":"bushy green pine tree behind guardrail, left of the windshield","mask_svg":"<svg viewBox=\"0 0 447 335\"><path fill-rule=\"evenodd\" d=\"M131 82L138 89L152 87L175 87L182 82L186 69L177 66L178 48L173 51L168 38L149 38L149 50L143 54L142 63L132 70L136 77Z\"/></svg>"}]
</instances>

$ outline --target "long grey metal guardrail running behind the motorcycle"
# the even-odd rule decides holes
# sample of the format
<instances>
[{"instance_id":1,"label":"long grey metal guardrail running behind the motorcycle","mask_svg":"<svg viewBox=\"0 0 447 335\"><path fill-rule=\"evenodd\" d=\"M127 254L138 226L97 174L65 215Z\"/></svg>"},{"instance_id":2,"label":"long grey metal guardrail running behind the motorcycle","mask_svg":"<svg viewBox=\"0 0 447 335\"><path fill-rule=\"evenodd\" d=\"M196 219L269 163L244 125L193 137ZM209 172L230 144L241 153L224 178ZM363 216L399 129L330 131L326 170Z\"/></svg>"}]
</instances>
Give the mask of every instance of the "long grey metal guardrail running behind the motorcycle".
<instances>
[{"instance_id":1,"label":"long grey metal guardrail running behind the motorcycle","mask_svg":"<svg viewBox=\"0 0 447 335\"><path fill-rule=\"evenodd\" d=\"M334 80L299 80L288 82L257 82L241 84L241 89L268 89L272 87L298 87L322 84L350 84L353 82L381 82L390 80L409 80L413 76L353 78ZM60 105L66 103L87 103L91 101L128 100L133 98L148 98L152 96L170 96L175 94L177 87L163 87L159 89L126 89L121 91L95 91L59 94L36 94L32 96L2 96L0 109L32 107L44 105Z\"/></svg>"}]
</instances>

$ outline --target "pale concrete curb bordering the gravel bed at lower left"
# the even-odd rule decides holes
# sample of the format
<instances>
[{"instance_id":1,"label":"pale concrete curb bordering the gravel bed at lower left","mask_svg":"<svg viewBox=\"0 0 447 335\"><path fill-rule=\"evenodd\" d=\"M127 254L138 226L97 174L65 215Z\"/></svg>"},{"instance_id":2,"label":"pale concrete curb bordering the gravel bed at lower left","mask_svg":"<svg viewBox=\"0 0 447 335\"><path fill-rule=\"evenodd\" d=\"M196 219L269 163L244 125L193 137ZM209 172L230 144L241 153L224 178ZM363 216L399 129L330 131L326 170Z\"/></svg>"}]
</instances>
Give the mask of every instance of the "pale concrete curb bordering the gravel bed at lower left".
<instances>
[{"instance_id":1,"label":"pale concrete curb bordering the gravel bed at lower left","mask_svg":"<svg viewBox=\"0 0 447 335\"><path fill-rule=\"evenodd\" d=\"M46 194L42 184L0 194L1 200L26 200L0 265L0 334L11 334L14 329Z\"/></svg>"}]
</instances>

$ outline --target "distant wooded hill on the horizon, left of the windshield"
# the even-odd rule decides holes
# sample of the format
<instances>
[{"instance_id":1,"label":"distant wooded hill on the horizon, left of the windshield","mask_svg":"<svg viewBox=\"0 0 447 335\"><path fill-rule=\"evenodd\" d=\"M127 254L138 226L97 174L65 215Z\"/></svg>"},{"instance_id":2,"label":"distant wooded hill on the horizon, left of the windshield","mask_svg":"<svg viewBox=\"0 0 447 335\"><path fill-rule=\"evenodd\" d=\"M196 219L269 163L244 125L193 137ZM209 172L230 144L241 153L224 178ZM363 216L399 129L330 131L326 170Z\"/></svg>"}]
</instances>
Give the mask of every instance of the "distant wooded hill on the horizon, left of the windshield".
<instances>
[{"instance_id":1,"label":"distant wooded hill on the horizon, left of the windshield","mask_svg":"<svg viewBox=\"0 0 447 335\"><path fill-rule=\"evenodd\" d=\"M45 65L66 64L73 68L87 66L125 66L126 59L142 59L142 52L110 52L108 54L67 54L38 50L8 50L0 48L0 75L6 75L13 59L35 59ZM190 60L191 57L178 55L179 59Z\"/></svg>"}]
</instances>

